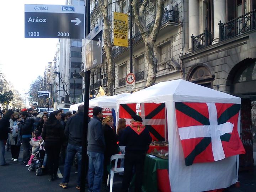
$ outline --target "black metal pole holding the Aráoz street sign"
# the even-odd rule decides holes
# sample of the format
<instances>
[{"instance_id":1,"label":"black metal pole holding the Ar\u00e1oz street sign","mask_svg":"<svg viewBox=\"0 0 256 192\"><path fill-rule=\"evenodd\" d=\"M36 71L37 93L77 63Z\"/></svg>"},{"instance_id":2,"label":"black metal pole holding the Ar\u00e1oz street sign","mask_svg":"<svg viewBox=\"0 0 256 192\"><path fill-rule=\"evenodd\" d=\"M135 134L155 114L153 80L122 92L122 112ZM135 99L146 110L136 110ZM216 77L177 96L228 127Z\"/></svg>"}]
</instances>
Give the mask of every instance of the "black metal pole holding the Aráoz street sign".
<instances>
[{"instance_id":1,"label":"black metal pole holding the Ar\u00e1oz street sign","mask_svg":"<svg viewBox=\"0 0 256 192\"><path fill-rule=\"evenodd\" d=\"M90 0L85 1L85 33L90 33ZM82 139L82 165L81 165L81 186L80 192L85 192L85 180L88 172L88 156L87 156L87 131L88 131L88 111L89 111L89 88L90 88L90 70L85 72L85 92L84 92L84 131Z\"/></svg>"}]
</instances>

